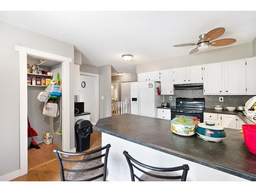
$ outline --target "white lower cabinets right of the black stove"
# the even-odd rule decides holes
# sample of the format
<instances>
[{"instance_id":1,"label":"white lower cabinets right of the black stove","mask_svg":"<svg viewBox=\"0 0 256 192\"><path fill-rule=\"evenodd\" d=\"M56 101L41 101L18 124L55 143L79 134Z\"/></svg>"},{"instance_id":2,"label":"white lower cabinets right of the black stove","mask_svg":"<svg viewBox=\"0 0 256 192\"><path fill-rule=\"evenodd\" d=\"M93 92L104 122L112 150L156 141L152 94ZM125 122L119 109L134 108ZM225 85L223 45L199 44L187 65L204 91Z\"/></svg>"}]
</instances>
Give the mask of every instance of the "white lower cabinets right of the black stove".
<instances>
[{"instance_id":1,"label":"white lower cabinets right of the black stove","mask_svg":"<svg viewBox=\"0 0 256 192\"><path fill-rule=\"evenodd\" d=\"M224 128L239 130L242 129L242 124L245 124L244 121L242 121L236 115L217 113L204 113L204 122L214 122L215 124L221 125Z\"/></svg>"}]
</instances>

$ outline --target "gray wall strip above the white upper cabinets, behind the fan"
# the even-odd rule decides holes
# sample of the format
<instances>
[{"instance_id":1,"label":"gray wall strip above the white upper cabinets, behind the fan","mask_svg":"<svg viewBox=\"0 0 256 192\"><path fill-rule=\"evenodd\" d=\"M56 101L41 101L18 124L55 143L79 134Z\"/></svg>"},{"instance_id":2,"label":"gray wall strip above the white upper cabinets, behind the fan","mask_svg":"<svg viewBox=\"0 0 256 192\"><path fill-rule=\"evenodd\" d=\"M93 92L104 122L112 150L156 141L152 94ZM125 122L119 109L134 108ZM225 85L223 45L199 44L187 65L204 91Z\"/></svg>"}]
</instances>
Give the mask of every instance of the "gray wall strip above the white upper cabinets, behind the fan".
<instances>
[{"instance_id":1,"label":"gray wall strip above the white upper cabinets, behind the fan","mask_svg":"<svg viewBox=\"0 0 256 192\"><path fill-rule=\"evenodd\" d=\"M181 49L181 48L177 48ZM137 73L252 57L252 42L136 66Z\"/></svg>"}]
</instances>

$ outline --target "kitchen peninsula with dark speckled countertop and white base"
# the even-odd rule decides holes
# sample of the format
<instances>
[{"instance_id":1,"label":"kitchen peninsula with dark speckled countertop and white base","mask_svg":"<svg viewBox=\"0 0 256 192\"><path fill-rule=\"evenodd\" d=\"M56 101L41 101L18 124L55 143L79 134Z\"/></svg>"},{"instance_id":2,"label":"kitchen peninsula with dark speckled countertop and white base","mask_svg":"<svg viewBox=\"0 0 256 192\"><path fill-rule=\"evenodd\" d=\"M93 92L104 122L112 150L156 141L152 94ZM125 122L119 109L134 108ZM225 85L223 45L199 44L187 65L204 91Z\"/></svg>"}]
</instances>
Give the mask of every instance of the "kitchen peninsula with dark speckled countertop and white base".
<instances>
[{"instance_id":1,"label":"kitchen peninsula with dark speckled countertop and white base","mask_svg":"<svg viewBox=\"0 0 256 192\"><path fill-rule=\"evenodd\" d=\"M225 129L227 138L216 143L176 135L169 127L169 120L131 114L100 119L95 130L102 132L102 146L111 144L108 180L131 180L122 154L126 150L153 166L188 164L188 181L256 181L256 155L237 130Z\"/></svg>"}]
</instances>

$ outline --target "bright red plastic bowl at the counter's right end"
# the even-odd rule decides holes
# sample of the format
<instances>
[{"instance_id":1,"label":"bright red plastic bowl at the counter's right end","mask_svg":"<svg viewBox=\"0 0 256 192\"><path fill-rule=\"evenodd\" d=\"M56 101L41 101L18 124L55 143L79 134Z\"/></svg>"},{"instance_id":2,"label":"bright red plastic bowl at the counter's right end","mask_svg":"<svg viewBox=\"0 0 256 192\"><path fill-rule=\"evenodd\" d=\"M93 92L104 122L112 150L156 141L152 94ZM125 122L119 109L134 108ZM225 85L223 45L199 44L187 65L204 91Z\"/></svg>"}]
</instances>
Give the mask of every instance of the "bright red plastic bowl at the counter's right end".
<instances>
[{"instance_id":1,"label":"bright red plastic bowl at the counter's right end","mask_svg":"<svg viewBox=\"0 0 256 192\"><path fill-rule=\"evenodd\" d=\"M255 124L243 124L242 125L244 142L248 150L256 155L256 125Z\"/></svg>"}]
</instances>

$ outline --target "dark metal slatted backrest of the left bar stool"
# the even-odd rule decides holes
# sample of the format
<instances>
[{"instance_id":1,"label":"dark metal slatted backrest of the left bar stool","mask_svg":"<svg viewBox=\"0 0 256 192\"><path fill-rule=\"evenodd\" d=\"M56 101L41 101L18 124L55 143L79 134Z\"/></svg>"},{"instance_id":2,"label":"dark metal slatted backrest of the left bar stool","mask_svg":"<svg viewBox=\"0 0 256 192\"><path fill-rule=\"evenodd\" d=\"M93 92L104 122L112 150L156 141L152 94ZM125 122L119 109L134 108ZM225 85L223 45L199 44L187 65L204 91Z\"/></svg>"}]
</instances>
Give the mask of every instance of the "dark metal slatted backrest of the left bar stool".
<instances>
[{"instance_id":1,"label":"dark metal slatted backrest of the left bar stool","mask_svg":"<svg viewBox=\"0 0 256 192\"><path fill-rule=\"evenodd\" d=\"M108 162L108 154L109 154L110 147L111 147L111 145L107 144L104 147L98 148L98 149L90 151L90 152L83 152L83 153L70 153L70 152L63 152L63 151L55 149L53 152L57 156L57 159L58 159L58 162L59 162L61 181L92 181L92 180L98 179L100 177L103 177L103 181L105 181L106 180L106 166L107 166L107 162ZM105 150L104 154L101 154L101 155L96 154L96 153L101 152L103 150ZM92 154L96 154L97 156L91 157L91 158L86 158L87 155L92 155ZM61 155L65 155L65 156L84 156L84 158L80 159L80 160L68 159L68 158L62 157ZM89 162L89 161L100 159L102 157L104 157L104 163L102 163L100 165L97 165L97 166L94 166L94 167L89 167L89 168L87 168L87 167L84 168L83 167L81 169L70 169L70 168L64 167L64 165L63 165L63 161L79 164L79 163L86 163L86 162ZM99 162L99 160L97 160L95 162ZM101 161L100 161L100 163L101 163ZM95 163L93 163L93 164L95 164ZM90 166L91 164L85 164L85 165ZM64 174L64 172L86 173L86 172L90 172L91 170L95 170L95 169L98 169L98 168L101 168L101 167L104 167L103 168L103 174L92 177L92 178L82 179L82 180L66 179L65 174Z\"/></svg>"}]
</instances>

